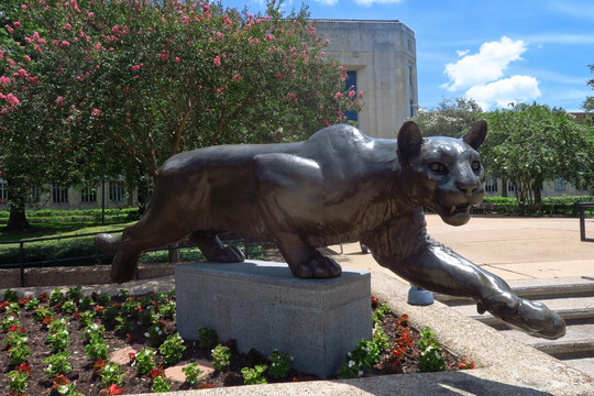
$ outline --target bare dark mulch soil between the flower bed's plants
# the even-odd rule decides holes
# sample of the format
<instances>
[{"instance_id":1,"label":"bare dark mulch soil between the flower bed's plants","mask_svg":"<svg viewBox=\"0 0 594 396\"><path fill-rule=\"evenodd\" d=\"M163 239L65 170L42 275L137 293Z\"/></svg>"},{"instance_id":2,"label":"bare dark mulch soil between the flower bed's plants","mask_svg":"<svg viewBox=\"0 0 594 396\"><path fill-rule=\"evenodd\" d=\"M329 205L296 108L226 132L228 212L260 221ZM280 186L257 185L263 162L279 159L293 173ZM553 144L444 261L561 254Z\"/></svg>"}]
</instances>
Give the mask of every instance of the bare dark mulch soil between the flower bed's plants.
<instances>
[{"instance_id":1,"label":"bare dark mulch soil between the flower bed's plants","mask_svg":"<svg viewBox=\"0 0 594 396\"><path fill-rule=\"evenodd\" d=\"M130 298L130 297L129 297ZM134 297L136 298L136 297ZM113 297L112 302L122 302L122 298ZM47 306L48 302L42 305ZM143 307L143 309L145 309ZM90 362L85 356L82 333L84 329L80 326L76 315L65 315L61 314L59 309L55 309L56 315L54 318L66 318L68 320L68 330L70 332L70 356L68 359L73 369L69 371L66 376L70 382L76 383L76 391L82 395L98 395L101 389L101 381L99 375L94 371L94 363ZM21 322L21 328L24 329L29 339L28 345L31 348L31 356L28 359L28 363L32 367L32 373L28 380L26 393L29 395L58 395L57 391L52 391L51 382L44 376L44 370L46 364L42 361L51 355L51 350L46 343L47 329L42 327L38 320L33 318L33 310L25 310L21 308L19 314L19 319ZM0 320L7 317L7 312L0 314ZM113 331L114 323L112 321L106 321L101 319L100 314L95 317L96 322L102 322L106 327L105 340L109 345L109 350L117 351L124 348L134 348L139 350L142 345L147 343L145 332L146 328L140 324L138 316L132 316L131 318L135 326L135 329L129 333L118 333ZM166 333L173 334L176 332L176 321L165 320L158 318L165 324ZM397 317L394 315L387 315L383 322L383 328L385 333L391 338L391 344L394 343L395 338L397 337L396 331L398 329ZM418 338L418 332L414 331L415 338ZM4 339L7 332L0 330L0 393L8 394L8 377L7 373L11 370L14 370L14 366L11 366L8 359L7 346L4 345ZM197 342L186 341L186 350L184 352L183 360L177 363L177 365L184 365L187 363L196 362L197 360L209 360L211 361L210 351L204 351L198 349ZM282 350L282 345L279 345ZM156 348L155 348L156 350ZM416 367L416 355L417 352L413 350L405 362L402 364L402 371L404 373L414 373L417 371ZM162 364L162 356L156 353L155 360L157 364ZM188 388L200 388L200 387L220 387L220 386L237 386L243 385L243 376L241 374L241 369L245 366L253 367L255 364L261 364L265 361L265 358L260 353L252 351L249 354L239 354L234 353L231 359L231 369L226 373L212 373L207 375L200 384L189 385L187 383L178 383L172 381L172 389L188 389ZM452 370L458 369L458 360L455 356L447 353L448 365ZM166 369L167 365L164 365ZM122 369L127 371L127 376L123 381L122 388L127 394L136 394L136 393L151 393L151 383L152 381L145 375L138 375L135 367L129 363L123 363ZM374 374L382 374L380 366L374 369ZM319 380L314 375L308 375L306 373L300 373L292 371L288 377L285 381L316 381ZM272 378L268 378L268 382L275 382ZM3 391L3 392L2 392ZM106 394L106 391L103 391Z\"/></svg>"}]
</instances>

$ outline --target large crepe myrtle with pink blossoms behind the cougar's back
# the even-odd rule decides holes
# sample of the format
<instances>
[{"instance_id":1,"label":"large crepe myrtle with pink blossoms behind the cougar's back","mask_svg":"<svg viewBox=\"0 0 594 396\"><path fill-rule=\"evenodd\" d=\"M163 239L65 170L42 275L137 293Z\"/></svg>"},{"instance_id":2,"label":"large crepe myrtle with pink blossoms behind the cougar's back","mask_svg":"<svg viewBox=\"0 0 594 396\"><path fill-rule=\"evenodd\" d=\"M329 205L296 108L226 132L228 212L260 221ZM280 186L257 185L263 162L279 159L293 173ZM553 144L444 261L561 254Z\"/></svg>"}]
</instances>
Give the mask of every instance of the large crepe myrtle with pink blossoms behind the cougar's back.
<instances>
[{"instance_id":1,"label":"large crepe myrtle with pink blossoms behind the cougar's back","mask_svg":"<svg viewBox=\"0 0 594 396\"><path fill-rule=\"evenodd\" d=\"M24 52L45 65L73 129L117 142L154 177L180 151L302 139L359 109L306 9L268 6L29 0L19 16L42 25Z\"/></svg>"}]
</instances>

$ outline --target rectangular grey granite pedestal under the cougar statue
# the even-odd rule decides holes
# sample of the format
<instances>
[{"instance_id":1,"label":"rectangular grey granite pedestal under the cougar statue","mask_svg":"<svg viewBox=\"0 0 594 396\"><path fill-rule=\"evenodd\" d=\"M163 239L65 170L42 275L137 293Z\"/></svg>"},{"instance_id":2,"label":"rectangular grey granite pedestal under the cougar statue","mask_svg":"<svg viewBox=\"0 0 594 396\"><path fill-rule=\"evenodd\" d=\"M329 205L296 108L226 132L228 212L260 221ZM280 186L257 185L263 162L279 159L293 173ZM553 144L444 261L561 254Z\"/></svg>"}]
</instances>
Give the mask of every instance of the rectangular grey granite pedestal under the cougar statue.
<instances>
[{"instance_id":1,"label":"rectangular grey granite pedestal under the cougar statue","mask_svg":"<svg viewBox=\"0 0 594 396\"><path fill-rule=\"evenodd\" d=\"M343 270L333 279L299 279L287 264L180 264L175 272L177 330L196 340L209 327L240 352L275 349L292 367L328 377L361 339L371 339L371 275Z\"/></svg>"}]
</instances>

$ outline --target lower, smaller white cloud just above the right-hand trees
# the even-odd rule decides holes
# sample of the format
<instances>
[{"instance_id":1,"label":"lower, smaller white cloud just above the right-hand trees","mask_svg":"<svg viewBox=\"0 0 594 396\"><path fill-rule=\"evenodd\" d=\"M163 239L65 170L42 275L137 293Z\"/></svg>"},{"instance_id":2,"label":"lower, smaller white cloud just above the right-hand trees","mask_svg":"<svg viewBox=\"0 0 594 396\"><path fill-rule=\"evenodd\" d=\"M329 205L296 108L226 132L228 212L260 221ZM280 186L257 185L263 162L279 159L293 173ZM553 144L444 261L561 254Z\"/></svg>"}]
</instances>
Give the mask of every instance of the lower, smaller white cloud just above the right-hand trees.
<instances>
[{"instance_id":1,"label":"lower, smaller white cloud just above the right-hand trees","mask_svg":"<svg viewBox=\"0 0 594 396\"><path fill-rule=\"evenodd\" d=\"M471 87L465 96L474 99L483 110L494 105L505 108L512 102L527 102L538 98L540 96L538 84L535 77L516 75Z\"/></svg>"}]
</instances>

